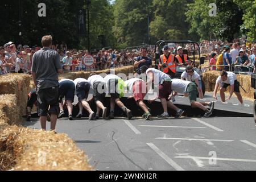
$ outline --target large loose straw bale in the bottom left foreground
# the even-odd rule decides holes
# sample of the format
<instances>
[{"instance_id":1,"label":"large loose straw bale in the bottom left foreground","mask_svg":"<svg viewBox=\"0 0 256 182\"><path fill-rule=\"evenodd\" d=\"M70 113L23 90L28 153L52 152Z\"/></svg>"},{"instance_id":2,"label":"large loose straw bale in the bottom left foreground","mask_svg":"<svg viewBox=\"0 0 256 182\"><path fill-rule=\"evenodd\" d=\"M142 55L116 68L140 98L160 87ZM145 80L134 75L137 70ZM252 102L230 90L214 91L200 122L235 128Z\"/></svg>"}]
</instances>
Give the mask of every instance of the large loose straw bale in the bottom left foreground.
<instances>
[{"instance_id":1,"label":"large loose straw bale in the bottom left foreground","mask_svg":"<svg viewBox=\"0 0 256 182\"><path fill-rule=\"evenodd\" d=\"M3 131L0 148L4 164L0 170L93 170L84 152L65 134L12 126Z\"/></svg>"}]
</instances>

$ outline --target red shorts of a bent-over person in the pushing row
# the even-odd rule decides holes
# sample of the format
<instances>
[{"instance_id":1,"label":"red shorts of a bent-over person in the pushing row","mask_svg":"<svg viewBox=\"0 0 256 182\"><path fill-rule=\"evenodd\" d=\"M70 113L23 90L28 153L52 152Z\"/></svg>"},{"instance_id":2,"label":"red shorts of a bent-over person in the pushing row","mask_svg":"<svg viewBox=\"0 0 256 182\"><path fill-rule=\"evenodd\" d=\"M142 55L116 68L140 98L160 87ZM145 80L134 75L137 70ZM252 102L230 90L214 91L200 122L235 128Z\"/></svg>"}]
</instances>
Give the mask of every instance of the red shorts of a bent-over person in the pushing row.
<instances>
[{"instance_id":1,"label":"red shorts of a bent-over person in the pushing row","mask_svg":"<svg viewBox=\"0 0 256 182\"><path fill-rule=\"evenodd\" d=\"M147 85L144 81L135 81L133 84L133 98L137 102L144 100L147 94Z\"/></svg>"}]
</instances>

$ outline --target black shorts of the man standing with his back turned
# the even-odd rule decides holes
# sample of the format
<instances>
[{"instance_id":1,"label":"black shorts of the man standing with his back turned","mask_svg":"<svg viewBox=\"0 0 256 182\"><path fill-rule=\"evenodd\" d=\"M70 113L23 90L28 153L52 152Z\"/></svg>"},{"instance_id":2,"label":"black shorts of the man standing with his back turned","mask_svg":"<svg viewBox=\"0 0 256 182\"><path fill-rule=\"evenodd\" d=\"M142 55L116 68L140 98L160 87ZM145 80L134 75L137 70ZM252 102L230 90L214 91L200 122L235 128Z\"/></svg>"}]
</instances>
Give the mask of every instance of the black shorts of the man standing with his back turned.
<instances>
[{"instance_id":1,"label":"black shorts of the man standing with his back turned","mask_svg":"<svg viewBox=\"0 0 256 182\"><path fill-rule=\"evenodd\" d=\"M38 92L38 115L46 116L47 113L59 115L60 107L58 102L59 89L57 86L41 89ZM50 106L50 109L49 109Z\"/></svg>"}]
</instances>

